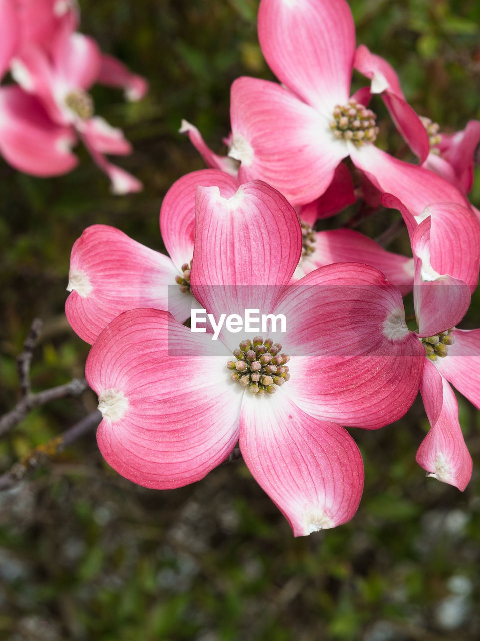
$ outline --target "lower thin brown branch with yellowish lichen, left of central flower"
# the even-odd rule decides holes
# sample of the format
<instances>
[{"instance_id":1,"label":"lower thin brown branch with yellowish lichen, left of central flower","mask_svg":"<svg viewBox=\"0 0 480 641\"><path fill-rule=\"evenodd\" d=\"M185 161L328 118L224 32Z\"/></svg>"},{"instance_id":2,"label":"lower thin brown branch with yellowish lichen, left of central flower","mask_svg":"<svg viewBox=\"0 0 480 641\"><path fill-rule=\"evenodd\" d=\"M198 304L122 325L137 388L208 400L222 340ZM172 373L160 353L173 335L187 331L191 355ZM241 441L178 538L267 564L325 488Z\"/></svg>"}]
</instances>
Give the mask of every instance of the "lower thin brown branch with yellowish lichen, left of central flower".
<instances>
[{"instance_id":1,"label":"lower thin brown branch with yellowish lichen, left of central flower","mask_svg":"<svg viewBox=\"0 0 480 641\"><path fill-rule=\"evenodd\" d=\"M0 476L0 491L9 490L26 478L29 472L40 467L40 465L45 465L48 460L63 451L65 447L72 445L76 440L96 428L101 419L102 414L99 410L96 410L84 419L79 420L79 422L70 429L67 429L67 431L60 436L52 438L49 442L35 447L35 449L29 452L27 456L24 456L21 461L15 463L12 469Z\"/></svg>"}]
</instances>

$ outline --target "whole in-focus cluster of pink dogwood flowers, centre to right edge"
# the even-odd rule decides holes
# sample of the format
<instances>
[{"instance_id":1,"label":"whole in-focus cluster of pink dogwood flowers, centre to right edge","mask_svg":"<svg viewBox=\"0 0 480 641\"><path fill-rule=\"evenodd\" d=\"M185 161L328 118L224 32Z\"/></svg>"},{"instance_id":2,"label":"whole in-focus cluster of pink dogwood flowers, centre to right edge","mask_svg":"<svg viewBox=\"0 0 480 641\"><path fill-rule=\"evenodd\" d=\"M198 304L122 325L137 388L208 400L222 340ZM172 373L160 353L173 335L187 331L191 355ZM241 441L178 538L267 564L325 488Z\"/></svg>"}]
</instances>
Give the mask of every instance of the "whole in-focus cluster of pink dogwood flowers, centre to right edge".
<instances>
[{"instance_id":1,"label":"whole in-focus cluster of pink dogwood flowers, centre to right edge","mask_svg":"<svg viewBox=\"0 0 480 641\"><path fill-rule=\"evenodd\" d=\"M182 124L209 169L164 199L171 258L118 229L86 229L72 251L67 317L93 345L86 376L112 467L175 488L239 442L301 536L358 508L364 466L346 426L381 428L419 390L431 430L417 462L460 490L470 480L451 383L480 407L480 329L456 329L479 279L479 212L467 192L480 123L449 137L420 118L388 62L356 47L346 0L261 0L259 38L282 84L234 82L228 156ZM371 83L351 96L354 68ZM419 164L376 146L372 94ZM413 258L349 229L314 230L359 197L401 212ZM412 290L417 329L403 305ZM208 322L204 333L185 324L196 308L237 326L215 342ZM266 315L266 331L239 329L244 310Z\"/></svg>"}]
</instances>

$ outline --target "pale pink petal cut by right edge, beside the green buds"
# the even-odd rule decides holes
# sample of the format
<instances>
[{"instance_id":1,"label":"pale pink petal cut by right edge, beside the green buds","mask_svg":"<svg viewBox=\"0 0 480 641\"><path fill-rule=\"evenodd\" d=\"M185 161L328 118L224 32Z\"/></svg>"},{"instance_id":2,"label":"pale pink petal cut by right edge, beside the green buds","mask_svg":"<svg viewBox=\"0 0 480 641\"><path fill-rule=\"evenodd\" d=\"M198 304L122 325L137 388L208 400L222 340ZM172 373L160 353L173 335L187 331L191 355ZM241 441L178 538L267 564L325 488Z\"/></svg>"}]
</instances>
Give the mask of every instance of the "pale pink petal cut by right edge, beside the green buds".
<instances>
[{"instance_id":1,"label":"pale pink petal cut by right edge, beside the green buds","mask_svg":"<svg viewBox=\"0 0 480 641\"><path fill-rule=\"evenodd\" d=\"M435 364L442 376L480 409L480 329L455 329L455 343Z\"/></svg>"}]
</instances>

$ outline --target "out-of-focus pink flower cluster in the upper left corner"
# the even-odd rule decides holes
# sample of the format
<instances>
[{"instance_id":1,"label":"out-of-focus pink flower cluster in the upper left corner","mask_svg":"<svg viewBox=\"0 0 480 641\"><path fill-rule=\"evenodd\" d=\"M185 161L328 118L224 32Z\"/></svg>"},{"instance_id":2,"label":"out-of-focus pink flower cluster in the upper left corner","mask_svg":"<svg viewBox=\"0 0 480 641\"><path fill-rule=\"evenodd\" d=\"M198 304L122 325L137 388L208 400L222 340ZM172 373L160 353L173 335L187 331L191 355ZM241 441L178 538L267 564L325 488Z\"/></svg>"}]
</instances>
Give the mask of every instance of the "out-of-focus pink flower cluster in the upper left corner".
<instances>
[{"instance_id":1,"label":"out-of-focus pink flower cluster in the upper left corner","mask_svg":"<svg viewBox=\"0 0 480 641\"><path fill-rule=\"evenodd\" d=\"M16 81L0 87L0 154L33 176L59 176L76 167L80 139L113 193L138 192L140 181L106 158L131 144L94 115L88 90L100 82L139 100L147 81L78 33L78 22L75 0L0 0L0 80L10 70Z\"/></svg>"}]
</instances>

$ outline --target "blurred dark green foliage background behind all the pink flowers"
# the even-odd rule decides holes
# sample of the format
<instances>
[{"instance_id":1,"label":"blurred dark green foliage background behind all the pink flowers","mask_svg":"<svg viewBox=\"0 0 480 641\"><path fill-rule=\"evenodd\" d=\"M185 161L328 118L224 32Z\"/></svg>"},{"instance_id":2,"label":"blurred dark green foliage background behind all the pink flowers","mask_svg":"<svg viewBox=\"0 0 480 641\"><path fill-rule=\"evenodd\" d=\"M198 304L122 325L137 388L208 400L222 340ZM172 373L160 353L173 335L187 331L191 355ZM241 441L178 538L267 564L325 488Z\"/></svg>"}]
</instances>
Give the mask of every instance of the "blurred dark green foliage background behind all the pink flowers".
<instances>
[{"instance_id":1,"label":"blurred dark green foliage background behind all the pink flowers","mask_svg":"<svg viewBox=\"0 0 480 641\"><path fill-rule=\"evenodd\" d=\"M69 328L70 250L93 223L164 251L166 190L204 163L178 129L200 128L216 151L229 132L229 90L242 74L271 78L257 0L81 0L82 29L150 80L141 103L96 87L97 111L125 130L120 160L145 191L109 194L84 150L79 168L42 180L0 159L0 412L19 399L15 357L35 317L34 390L83 376L88 345ZM397 69L404 92L443 131L480 118L477 0L353 0L357 40ZM355 78L360 86L360 76ZM385 110L374 103L380 115ZM385 120L381 145L401 142ZM480 178L480 176L478 176ZM480 180L472 192L480 206ZM322 222L334 228L347 214ZM357 227L375 237L395 219ZM408 252L403 233L389 249ZM463 326L478 326L477 297ZM411 309L409 311L412 311ZM166 492L129 483L102 460L93 432L0 493L0 638L9 641L440 641L480 638L478 413L459 395L474 458L462 494L425 479L415 453L422 403L380 431L352 429L365 491L349 524L292 537L243 462ZM86 392L32 412L0 444L0 472L95 410Z\"/></svg>"}]
</instances>

